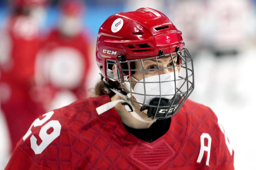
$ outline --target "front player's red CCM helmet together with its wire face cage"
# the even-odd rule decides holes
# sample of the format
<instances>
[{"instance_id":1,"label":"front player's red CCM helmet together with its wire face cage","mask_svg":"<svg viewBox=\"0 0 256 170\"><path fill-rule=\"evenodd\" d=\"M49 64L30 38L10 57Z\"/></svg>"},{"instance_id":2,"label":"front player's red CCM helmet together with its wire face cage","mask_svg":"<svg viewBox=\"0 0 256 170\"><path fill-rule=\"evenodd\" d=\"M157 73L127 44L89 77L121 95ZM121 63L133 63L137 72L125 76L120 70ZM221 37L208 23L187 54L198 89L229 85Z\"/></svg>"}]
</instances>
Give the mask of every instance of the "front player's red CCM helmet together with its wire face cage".
<instances>
[{"instance_id":1,"label":"front player's red CCM helmet together with its wire face cage","mask_svg":"<svg viewBox=\"0 0 256 170\"><path fill-rule=\"evenodd\" d=\"M96 62L101 71L102 80L103 78L112 81L119 80L121 88L105 84L126 95L127 101L130 101L130 104L140 112L148 110L146 114L148 117L161 119L173 116L194 89L193 61L187 49L183 48L184 43L181 34L181 31L164 14L151 8L143 7L136 11L119 12L110 16L99 28L96 44ZM174 55L177 56L175 66L173 64ZM145 60L157 61L164 57L171 57L171 66L159 68L158 63L154 69L144 68L143 66ZM133 63L140 61L142 69L135 69ZM112 70L113 65L116 66L117 70ZM164 82L161 82L160 70L170 69L170 67L174 69L172 71L174 77L178 77L168 81L162 80ZM183 77L182 74L176 72L180 71L180 68L186 70ZM158 82L157 86L160 88L160 94L152 95L149 92L150 90L146 89L149 83L156 82L146 82L145 70L158 70L159 81L156 82ZM140 71L141 74L143 71L142 80L137 82L131 80L135 71ZM125 80L125 76L129 77L129 80ZM193 80L190 81L189 77ZM131 88L133 82L143 83L144 88L139 92L134 92ZM174 90L170 95L163 95L165 92L159 87L161 83L166 82L173 84ZM178 84L178 82L180 83ZM130 84L128 85L130 88L127 88L127 86L124 88L123 84L125 83ZM128 97L128 93L131 94L131 98ZM142 97L140 101L138 100L139 95ZM133 100L133 96L137 96L137 101ZM155 98L147 102L149 96ZM137 103L137 105L134 103ZM141 108L137 107L138 104L141 105Z\"/></svg>"}]
</instances>

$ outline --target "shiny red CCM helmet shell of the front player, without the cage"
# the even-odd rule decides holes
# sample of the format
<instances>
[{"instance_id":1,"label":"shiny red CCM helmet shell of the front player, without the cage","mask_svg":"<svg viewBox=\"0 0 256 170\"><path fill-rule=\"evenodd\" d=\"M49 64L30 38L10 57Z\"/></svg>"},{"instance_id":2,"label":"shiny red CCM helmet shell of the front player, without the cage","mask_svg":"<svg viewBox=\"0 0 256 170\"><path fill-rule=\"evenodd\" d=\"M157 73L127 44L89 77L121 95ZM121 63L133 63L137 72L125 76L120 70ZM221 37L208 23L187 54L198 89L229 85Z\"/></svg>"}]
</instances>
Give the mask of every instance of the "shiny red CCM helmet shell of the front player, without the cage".
<instances>
[{"instance_id":1,"label":"shiny red CCM helmet shell of the front player, without the cage","mask_svg":"<svg viewBox=\"0 0 256 170\"><path fill-rule=\"evenodd\" d=\"M117 61L141 59L183 49L183 40L173 23L161 12L151 8L139 8L132 12L119 12L107 18L99 28L96 44L96 61L105 79L106 59Z\"/></svg>"}]
</instances>

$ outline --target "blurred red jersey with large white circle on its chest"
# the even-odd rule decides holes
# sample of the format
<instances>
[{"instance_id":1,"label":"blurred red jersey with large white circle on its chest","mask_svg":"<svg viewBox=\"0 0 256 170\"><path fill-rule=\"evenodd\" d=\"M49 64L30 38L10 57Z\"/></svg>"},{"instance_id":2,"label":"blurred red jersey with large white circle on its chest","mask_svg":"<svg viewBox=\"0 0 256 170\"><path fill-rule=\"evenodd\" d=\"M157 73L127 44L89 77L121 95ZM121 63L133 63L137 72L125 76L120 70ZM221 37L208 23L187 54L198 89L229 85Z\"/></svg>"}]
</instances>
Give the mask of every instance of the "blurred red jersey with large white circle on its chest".
<instances>
[{"instance_id":1,"label":"blurred red jersey with large white circle on its chest","mask_svg":"<svg viewBox=\"0 0 256 170\"><path fill-rule=\"evenodd\" d=\"M82 33L63 36L53 30L43 42L36 61L37 100L47 110L87 97L91 60L88 39Z\"/></svg>"}]
</instances>

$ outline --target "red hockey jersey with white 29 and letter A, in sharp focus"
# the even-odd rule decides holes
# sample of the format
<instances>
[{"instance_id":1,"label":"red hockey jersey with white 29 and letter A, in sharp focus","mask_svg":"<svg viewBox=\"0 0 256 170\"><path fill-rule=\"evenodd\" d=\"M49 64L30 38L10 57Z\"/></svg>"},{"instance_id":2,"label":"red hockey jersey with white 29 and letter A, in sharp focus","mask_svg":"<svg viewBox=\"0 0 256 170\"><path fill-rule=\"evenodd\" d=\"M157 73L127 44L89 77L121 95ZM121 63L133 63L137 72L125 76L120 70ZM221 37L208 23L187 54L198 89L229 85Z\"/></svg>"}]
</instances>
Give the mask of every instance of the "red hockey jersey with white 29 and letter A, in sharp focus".
<instances>
[{"instance_id":1,"label":"red hockey jersey with white 29 and letter A, in sharp focus","mask_svg":"<svg viewBox=\"0 0 256 170\"><path fill-rule=\"evenodd\" d=\"M36 119L6 169L228 169L234 151L215 114L187 100L152 143L130 134L108 95L78 100Z\"/></svg>"}]
</instances>

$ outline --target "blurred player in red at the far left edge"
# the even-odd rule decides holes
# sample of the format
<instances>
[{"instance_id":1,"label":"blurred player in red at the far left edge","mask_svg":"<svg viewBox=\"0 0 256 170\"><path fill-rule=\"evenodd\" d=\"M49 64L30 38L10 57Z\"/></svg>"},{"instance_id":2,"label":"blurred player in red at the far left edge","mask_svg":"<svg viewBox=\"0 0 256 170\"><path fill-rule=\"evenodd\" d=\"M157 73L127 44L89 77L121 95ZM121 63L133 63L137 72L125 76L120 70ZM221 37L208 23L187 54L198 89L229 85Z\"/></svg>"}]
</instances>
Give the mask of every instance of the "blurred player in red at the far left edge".
<instances>
[{"instance_id":1,"label":"blurred player in red at the far left edge","mask_svg":"<svg viewBox=\"0 0 256 170\"><path fill-rule=\"evenodd\" d=\"M39 24L46 0L13 0L0 39L0 100L6 117L11 150L31 122L45 112L31 100L34 63L39 49Z\"/></svg>"}]
</instances>

